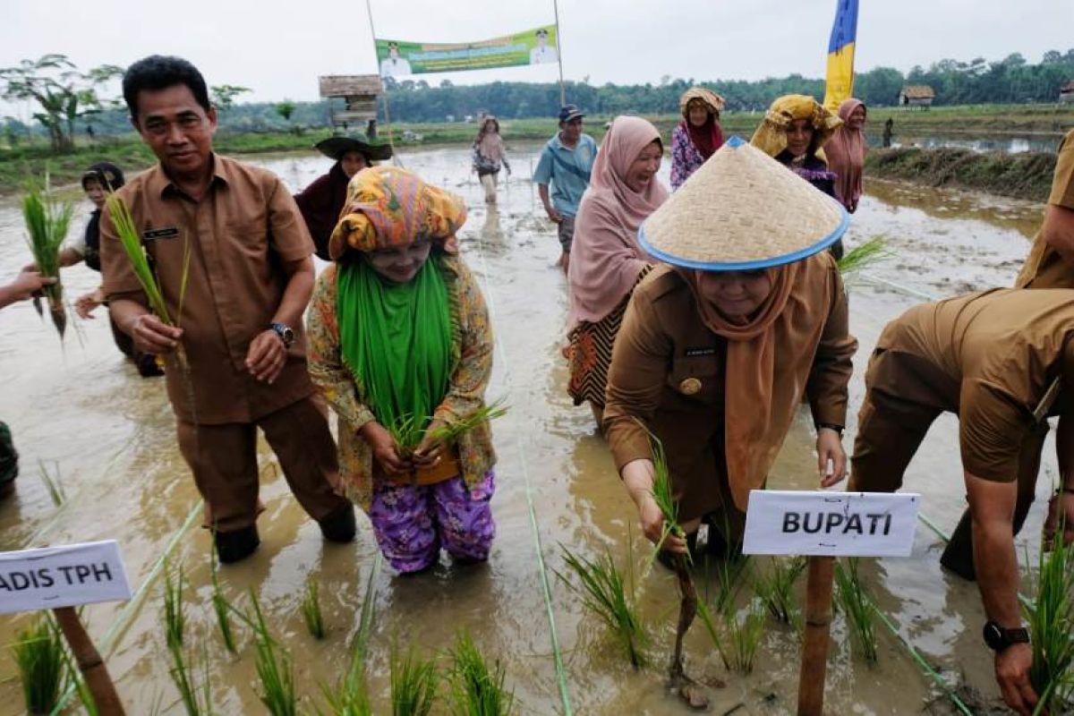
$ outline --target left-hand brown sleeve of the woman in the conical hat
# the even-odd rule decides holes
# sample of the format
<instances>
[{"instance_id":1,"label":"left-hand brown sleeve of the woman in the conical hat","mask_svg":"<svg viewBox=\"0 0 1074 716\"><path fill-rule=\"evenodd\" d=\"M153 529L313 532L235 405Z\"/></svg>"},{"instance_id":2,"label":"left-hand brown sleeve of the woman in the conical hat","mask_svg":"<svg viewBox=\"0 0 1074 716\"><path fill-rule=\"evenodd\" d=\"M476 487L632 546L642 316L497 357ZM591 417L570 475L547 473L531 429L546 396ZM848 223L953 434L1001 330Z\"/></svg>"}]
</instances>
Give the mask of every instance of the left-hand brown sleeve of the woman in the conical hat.
<instances>
[{"instance_id":1,"label":"left-hand brown sleeve of the woman in the conical hat","mask_svg":"<svg viewBox=\"0 0 1074 716\"><path fill-rule=\"evenodd\" d=\"M615 337L605 394L604 428L616 470L635 459L652 459L645 430L667 380L670 352L671 340L651 301L636 292Z\"/></svg>"}]
</instances>

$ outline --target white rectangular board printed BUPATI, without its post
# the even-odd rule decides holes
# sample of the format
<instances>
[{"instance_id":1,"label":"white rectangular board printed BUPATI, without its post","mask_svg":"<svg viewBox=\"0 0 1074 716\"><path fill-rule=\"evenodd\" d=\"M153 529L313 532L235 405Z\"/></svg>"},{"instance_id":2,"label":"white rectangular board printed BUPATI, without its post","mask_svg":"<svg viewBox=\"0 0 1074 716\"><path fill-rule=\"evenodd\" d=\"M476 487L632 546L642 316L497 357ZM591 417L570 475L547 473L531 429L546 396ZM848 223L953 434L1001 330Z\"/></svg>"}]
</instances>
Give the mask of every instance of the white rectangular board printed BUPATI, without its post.
<instances>
[{"instance_id":1,"label":"white rectangular board printed BUPATI, without its post","mask_svg":"<svg viewBox=\"0 0 1074 716\"><path fill-rule=\"evenodd\" d=\"M745 554L909 557L920 495L754 489Z\"/></svg>"}]
</instances>

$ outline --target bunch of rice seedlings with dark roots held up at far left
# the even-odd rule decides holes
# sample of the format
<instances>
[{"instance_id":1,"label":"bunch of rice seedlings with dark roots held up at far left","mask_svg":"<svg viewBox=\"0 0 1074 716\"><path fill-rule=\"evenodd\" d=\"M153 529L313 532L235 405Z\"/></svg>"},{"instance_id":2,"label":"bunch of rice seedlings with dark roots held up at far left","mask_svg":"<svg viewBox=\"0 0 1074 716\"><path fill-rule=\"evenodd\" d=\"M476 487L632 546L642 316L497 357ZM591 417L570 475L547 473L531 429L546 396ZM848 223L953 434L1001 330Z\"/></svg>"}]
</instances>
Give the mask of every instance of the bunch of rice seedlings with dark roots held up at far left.
<instances>
[{"instance_id":1,"label":"bunch of rice seedlings with dark roots held up at far left","mask_svg":"<svg viewBox=\"0 0 1074 716\"><path fill-rule=\"evenodd\" d=\"M74 204L57 202L48 190L48 175L45 175L44 187L35 180L26 185L23 196L23 219L29 235L28 244L33 254L33 263L42 276L49 276L56 282L44 287L42 292L48 299L48 312L53 325L63 338L67 330L67 309L63 306L63 284L60 283L60 247L67 237L74 216ZM41 310L40 304L38 310Z\"/></svg>"}]
</instances>

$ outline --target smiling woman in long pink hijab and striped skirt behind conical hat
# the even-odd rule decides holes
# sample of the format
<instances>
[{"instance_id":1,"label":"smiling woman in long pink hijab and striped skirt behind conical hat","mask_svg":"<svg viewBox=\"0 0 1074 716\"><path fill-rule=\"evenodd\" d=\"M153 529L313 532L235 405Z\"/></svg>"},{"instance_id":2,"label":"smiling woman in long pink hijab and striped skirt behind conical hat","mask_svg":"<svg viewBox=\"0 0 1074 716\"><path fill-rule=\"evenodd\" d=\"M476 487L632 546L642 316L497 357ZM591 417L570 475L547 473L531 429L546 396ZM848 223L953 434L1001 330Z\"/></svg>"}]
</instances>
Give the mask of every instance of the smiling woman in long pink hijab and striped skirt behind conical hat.
<instances>
[{"instance_id":1,"label":"smiling woman in long pink hijab and striped skirt behind conical hat","mask_svg":"<svg viewBox=\"0 0 1074 716\"><path fill-rule=\"evenodd\" d=\"M605 134L582 196L570 251L567 356L575 405L589 401L600 424L611 349L626 303L654 261L638 246L638 227L668 198L656 179L661 133L640 117L616 117Z\"/></svg>"}]
</instances>

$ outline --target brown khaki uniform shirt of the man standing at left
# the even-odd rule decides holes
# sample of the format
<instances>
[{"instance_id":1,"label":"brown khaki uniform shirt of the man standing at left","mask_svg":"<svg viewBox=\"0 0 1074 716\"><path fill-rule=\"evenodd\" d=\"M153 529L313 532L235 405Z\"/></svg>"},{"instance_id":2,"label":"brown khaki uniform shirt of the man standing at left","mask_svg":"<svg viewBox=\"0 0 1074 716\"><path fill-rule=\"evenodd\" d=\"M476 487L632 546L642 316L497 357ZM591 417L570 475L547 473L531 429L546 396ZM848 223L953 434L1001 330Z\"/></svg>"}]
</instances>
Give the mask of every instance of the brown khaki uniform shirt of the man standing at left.
<instances>
[{"instance_id":1,"label":"brown khaki uniform shirt of the man standing at left","mask_svg":"<svg viewBox=\"0 0 1074 716\"><path fill-rule=\"evenodd\" d=\"M246 368L250 341L270 327L284 297L288 276L282 262L314 252L284 182L271 172L217 155L208 193L199 202L172 184L159 164L117 193L156 265L169 313L184 331L193 395L173 363L166 371L178 419L205 425L249 423L313 394L301 324L291 326L295 340L274 383L259 382ZM110 299L131 298L148 307L107 210L101 219L101 268Z\"/></svg>"}]
</instances>

